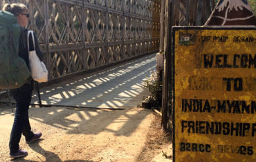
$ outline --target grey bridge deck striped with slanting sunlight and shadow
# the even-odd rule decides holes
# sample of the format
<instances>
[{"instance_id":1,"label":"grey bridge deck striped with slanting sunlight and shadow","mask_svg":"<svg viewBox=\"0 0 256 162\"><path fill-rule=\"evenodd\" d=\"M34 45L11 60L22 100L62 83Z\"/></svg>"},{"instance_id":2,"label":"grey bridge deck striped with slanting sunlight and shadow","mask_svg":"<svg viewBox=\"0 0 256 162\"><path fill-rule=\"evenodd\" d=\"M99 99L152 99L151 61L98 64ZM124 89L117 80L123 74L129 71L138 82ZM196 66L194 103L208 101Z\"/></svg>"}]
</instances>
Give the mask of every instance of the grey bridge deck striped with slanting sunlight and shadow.
<instances>
[{"instance_id":1,"label":"grey bridge deck striped with slanting sunlight and shadow","mask_svg":"<svg viewBox=\"0 0 256 162\"><path fill-rule=\"evenodd\" d=\"M111 109L137 107L147 96L142 83L145 76L155 70L155 56L149 54L105 70L48 85L40 90L42 104ZM31 103L38 104L36 93Z\"/></svg>"}]
</instances>

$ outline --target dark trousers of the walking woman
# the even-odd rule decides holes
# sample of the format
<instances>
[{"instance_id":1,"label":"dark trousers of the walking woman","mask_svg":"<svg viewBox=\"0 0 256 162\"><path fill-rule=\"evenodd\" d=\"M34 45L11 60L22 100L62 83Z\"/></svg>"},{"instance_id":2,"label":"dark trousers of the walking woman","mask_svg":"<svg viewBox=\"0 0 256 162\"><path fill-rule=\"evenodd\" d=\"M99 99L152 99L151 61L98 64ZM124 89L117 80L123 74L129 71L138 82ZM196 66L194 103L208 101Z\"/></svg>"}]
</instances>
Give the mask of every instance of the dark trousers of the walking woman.
<instances>
[{"instance_id":1,"label":"dark trousers of the walking woman","mask_svg":"<svg viewBox=\"0 0 256 162\"><path fill-rule=\"evenodd\" d=\"M28 108L30 105L33 91L33 81L26 83L15 90L11 90L12 97L16 101L15 120L12 125L12 132L10 133L10 154L14 154L19 150L19 141L21 139L21 133L26 139L33 138L33 132L31 131Z\"/></svg>"}]
</instances>

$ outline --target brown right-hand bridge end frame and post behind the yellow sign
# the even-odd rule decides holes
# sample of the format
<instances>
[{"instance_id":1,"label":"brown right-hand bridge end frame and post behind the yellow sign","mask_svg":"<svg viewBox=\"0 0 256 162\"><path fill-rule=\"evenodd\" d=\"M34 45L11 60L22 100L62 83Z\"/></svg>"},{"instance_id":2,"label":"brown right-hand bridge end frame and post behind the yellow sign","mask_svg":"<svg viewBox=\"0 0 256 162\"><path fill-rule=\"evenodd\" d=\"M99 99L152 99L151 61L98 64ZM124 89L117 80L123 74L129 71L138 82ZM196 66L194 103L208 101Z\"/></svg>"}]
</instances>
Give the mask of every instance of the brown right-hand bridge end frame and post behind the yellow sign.
<instances>
[{"instance_id":1,"label":"brown right-hand bridge end frame and post behind the yellow sign","mask_svg":"<svg viewBox=\"0 0 256 162\"><path fill-rule=\"evenodd\" d=\"M173 104L173 75L172 65L172 27L173 26L203 26L212 10L214 0L162 0L161 1L161 34L159 52L164 54L163 91L162 91L162 119L163 130L172 132L172 104ZM194 6L191 7L191 4ZM195 9L199 16L194 19ZM194 9L194 10L192 10ZM192 14L191 14L192 13Z\"/></svg>"}]
</instances>

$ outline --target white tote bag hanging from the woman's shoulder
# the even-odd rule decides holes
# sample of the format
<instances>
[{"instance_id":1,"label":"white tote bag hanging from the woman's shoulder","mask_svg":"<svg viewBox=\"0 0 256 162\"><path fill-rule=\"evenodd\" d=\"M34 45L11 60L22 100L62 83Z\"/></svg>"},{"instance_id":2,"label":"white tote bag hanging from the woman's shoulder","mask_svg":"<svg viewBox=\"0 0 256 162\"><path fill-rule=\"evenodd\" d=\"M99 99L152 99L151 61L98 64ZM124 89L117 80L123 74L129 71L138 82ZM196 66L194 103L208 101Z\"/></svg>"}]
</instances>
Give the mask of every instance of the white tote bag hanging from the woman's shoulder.
<instances>
[{"instance_id":1,"label":"white tote bag hanging from the woman's shoulder","mask_svg":"<svg viewBox=\"0 0 256 162\"><path fill-rule=\"evenodd\" d=\"M29 51L29 35L31 34L33 39L34 50ZM28 59L30 63L31 76L34 81L39 83L48 81L48 70L46 65L37 57L35 52L35 38L32 30L28 30Z\"/></svg>"}]
</instances>

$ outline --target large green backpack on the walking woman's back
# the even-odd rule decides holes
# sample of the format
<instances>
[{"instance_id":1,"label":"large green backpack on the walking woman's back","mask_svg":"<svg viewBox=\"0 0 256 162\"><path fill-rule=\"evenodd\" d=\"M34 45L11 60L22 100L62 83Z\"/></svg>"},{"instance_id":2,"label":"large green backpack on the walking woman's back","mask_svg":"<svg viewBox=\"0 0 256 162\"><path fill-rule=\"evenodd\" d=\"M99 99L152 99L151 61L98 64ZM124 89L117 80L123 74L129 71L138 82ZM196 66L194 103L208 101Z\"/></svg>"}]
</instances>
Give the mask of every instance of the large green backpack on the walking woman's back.
<instances>
[{"instance_id":1,"label":"large green backpack on the walking woman's back","mask_svg":"<svg viewBox=\"0 0 256 162\"><path fill-rule=\"evenodd\" d=\"M20 32L17 18L0 11L0 89L19 88L30 77L26 62L18 56Z\"/></svg>"}]
</instances>

